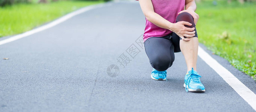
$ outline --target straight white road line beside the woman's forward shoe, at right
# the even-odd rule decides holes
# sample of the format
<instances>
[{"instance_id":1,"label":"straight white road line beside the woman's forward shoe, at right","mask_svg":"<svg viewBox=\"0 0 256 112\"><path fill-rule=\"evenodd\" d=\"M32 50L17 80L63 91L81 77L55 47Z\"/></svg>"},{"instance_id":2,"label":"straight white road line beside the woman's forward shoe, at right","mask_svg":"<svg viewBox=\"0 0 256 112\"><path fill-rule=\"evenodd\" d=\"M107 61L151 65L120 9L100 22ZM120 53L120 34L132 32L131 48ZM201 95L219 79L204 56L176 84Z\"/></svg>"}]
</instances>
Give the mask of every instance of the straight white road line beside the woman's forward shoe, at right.
<instances>
[{"instance_id":1,"label":"straight white road line beside the woman's forward shoe, at right","mask_svg":"<svg viewBox=\"0 0 256 112\"><path fill-rule=\"evenodd\" d=\"M256 94L253 93L246 85L238 80L231 72L220 65L213 57L205 52L200 46L198 47L198 56L205 61L223 80L226 81L252 108L256 111Z\"/></svg>"}]
</instances>

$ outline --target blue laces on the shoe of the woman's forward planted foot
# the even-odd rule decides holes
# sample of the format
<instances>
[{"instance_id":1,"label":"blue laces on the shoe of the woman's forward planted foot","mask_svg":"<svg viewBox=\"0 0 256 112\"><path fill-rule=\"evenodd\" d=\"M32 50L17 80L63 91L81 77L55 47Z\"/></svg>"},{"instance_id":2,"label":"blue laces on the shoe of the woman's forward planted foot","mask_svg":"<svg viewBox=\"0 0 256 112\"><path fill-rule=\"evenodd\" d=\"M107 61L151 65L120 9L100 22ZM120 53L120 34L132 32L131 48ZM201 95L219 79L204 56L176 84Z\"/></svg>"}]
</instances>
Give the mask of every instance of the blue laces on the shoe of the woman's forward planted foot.
<instances>
[{"instance_id":1,"label":"blue laces on the shoe of the woman's forward planted foot","mask_svg":"<svg viewBox=\"0 0 256 112\"><path fill-rule=\"evenodd\" d=\"M195 74L194 71L193 71L193 68L191 70L191 73L189 74L189 78L187 78L187 81L186 81L186 86L185 86L185 89L187 92L189 92L189 83L190 83L190 80L193 81L193 83L198 83L200 84L200 80L199 80L199 77L201 77L200 75L198 74Z\"/></svg>"}]
</instances>

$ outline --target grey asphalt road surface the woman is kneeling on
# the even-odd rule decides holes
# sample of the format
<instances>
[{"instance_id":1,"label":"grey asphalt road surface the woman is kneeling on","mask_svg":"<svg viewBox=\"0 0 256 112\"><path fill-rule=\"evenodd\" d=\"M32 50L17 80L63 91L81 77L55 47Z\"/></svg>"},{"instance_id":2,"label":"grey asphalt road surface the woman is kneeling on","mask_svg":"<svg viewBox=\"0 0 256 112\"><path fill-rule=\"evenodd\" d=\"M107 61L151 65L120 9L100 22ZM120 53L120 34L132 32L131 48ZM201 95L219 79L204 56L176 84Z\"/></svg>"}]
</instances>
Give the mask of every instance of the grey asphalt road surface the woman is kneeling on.
<instances>
[{"instance_id":1,"label":"grey asphalt road surface the woman is kneeling on","mask_svg":"<svg viewBox=\"0 0 256 112\"><path fill-rule=\"evenodd\" d=\"M0 59L0 112L254 112L199 57L205 93L185 91L181 53L167 70L168 81L152 80L152 67L137 40L144 25L138 2L118 2L1 45L0 57L9 59ZM131 46L137 52L129 55ZM207 52L256 93L250 77ZM118 59L124 57L123 66ZM106 71L112 64L120 71L110 77Z\"/></svg>"}]
</instances>

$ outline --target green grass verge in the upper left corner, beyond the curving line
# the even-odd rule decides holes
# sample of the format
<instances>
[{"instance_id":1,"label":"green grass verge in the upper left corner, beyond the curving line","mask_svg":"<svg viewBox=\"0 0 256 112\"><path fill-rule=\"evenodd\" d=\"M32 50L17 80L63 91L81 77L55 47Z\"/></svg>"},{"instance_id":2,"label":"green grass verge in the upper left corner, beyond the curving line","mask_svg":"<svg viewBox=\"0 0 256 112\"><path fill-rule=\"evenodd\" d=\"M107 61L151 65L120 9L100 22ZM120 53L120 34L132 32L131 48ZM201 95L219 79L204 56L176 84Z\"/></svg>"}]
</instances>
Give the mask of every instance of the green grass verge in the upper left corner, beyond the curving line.
<instances>
[{"instance_id":1,"label":"green grass verge in the upper left corner, beyond the curving line","mask_svg":"<svg viewBox=\"0 0 256 112\"><path fill-rule=\"evenodd\" d=\"M0 37L28 31L81 7L101 2L103 1L70 0L0 7Z\"/></svg>"}]
</instances>

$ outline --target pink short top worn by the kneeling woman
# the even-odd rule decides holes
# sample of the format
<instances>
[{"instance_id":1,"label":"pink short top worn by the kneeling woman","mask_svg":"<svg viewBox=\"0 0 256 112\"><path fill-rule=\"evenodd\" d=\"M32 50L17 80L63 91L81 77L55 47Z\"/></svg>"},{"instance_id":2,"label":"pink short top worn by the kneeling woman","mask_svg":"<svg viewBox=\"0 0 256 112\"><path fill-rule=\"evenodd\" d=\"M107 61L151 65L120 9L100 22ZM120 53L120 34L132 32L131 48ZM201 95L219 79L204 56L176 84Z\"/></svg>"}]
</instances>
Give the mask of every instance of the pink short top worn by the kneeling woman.
<instances>
[{"instance_id":1,"label":"pink short top worn by the kneeling woman","mask_svg":"<svg viewBox=\"0 0 256 112\"><path fill-rule=\"evenodd\" d=\"M168 20L175 23L175 19L178 13L184 10L185 0L151 0L154 12ZM143 34L143 40L146 41L150 37L162 37L170 34L172 31L157 27L153 23L146 19L145 32Z\"/></svg>"}]
</instances>

